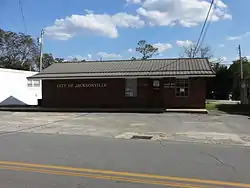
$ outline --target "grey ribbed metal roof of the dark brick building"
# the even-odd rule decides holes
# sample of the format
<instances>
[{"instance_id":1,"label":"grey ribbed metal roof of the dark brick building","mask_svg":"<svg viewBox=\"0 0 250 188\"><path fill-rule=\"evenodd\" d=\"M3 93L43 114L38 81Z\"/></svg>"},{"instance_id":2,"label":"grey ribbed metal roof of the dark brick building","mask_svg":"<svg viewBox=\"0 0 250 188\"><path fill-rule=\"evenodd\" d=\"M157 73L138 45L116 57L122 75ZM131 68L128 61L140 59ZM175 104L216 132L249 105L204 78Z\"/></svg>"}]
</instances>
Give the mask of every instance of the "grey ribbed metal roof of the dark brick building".
<instances>
[{"instance_id":1,"label":"grey ribbed metal roof of the dark brick building","mask_svg":"<svg viewBox=\"0 0 250 188\"><path fill-rule=\"evenodd\" d=\"M55 63L28 79L210 77L214 75L215 72L206 58L176 58Z\"/></svg>"}]
</instances>

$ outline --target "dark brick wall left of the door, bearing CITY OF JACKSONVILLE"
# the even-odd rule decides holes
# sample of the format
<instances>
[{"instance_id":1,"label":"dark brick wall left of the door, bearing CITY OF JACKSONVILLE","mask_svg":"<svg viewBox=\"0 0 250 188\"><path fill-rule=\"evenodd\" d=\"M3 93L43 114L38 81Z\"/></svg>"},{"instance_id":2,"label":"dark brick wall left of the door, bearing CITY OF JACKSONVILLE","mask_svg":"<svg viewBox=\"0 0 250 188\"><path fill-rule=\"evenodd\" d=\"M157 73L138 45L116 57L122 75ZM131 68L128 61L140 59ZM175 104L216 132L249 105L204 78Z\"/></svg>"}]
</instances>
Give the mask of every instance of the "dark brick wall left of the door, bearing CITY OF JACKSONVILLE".
<instances>
[{"instance_id":1,"label":"dark brick wall left of the door, bearing CITY OF JACKSONVILLE","mask_svg":"<svg viewBox=\"0 0 250 188\"><path fill-rule=\"evenodd\" d=\"M147 107L148 80L138 80L137 97L125 97L124 79L102 80L44 80L42 106L74 108L129 108ZM72 88L58 84L106 84L106 87Z\"/></svg>"}]
</instances>

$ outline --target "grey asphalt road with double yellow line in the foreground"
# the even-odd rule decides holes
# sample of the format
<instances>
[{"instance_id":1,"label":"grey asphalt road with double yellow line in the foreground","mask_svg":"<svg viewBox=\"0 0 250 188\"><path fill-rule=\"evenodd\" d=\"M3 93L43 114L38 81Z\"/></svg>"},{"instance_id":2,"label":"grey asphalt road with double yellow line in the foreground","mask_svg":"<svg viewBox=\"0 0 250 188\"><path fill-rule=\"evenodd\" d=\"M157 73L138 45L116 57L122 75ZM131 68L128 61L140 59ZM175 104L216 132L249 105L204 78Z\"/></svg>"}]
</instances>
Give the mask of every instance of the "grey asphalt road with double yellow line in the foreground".
<instances>
[{"instance_id":1,"label":"grey asphalt road with double yellow line in the foreground","mask_svg":"<svg viewBox=\"0 0 250 188\"><path fill-rule=\"evenodd\" d=\"M0 187L250 187L240 146L19 133L0 135Z\"/></svg>"}]
</instances>

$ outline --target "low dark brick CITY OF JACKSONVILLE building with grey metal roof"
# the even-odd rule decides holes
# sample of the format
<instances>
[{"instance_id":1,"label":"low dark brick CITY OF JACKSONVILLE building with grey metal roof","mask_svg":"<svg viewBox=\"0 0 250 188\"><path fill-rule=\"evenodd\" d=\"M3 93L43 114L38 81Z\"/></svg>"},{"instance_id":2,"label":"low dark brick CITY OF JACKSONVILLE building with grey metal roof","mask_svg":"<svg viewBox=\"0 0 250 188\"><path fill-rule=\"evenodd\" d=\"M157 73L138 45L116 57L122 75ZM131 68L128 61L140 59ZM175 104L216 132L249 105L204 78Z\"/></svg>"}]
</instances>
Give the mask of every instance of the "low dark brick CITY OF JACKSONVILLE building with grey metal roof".
<instances>
[{"instance_id":1,"label":"low dark brick CITY OF JACKSONVILLE building with grey metal roof","mask_svg":"<svg viewBox=\"0 0 250 188\"><path fill-rule=\"evenodd\" d=\"M28 80L42 80L46 108L205 108L207 59L58 63Z\"/></svg>"}]
</instances>

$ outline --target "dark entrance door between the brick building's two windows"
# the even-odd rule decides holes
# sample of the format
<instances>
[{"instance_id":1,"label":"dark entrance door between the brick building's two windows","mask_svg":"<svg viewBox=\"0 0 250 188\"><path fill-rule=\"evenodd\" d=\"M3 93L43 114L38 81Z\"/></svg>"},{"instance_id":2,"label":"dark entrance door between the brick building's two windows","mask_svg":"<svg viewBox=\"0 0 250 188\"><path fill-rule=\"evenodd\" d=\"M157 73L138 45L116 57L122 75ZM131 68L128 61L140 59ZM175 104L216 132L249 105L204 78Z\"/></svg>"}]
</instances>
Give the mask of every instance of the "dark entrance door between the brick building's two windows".
<instances>
[{"instance_id":1,"label":"dark entrance door between the brick building's two windows","mask_svg":"<svg viewBox=\"0 0 250 188\"><path fill-rule=\"evenodd\" d=\"M163 106L161 80L151 80L150 107L161 108Z\"/></svg>"}]
</instances>

